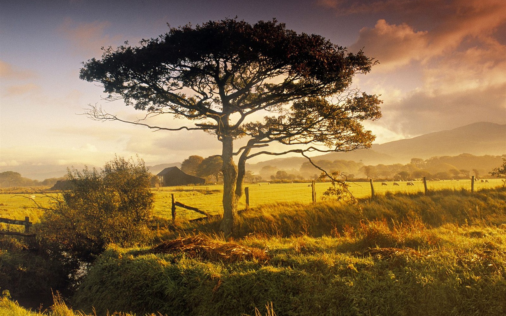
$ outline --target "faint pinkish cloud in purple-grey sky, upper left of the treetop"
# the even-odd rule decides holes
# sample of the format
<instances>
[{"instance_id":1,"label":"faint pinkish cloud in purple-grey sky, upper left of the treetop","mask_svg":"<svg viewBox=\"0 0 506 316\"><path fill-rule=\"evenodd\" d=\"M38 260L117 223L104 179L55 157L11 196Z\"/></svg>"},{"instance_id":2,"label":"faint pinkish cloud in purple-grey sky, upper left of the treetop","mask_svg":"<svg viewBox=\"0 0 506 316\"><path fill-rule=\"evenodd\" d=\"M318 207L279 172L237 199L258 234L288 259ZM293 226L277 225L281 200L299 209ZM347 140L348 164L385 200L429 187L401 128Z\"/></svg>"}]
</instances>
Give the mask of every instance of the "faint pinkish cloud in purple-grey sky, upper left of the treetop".
<instances>
[{"instance_id":1,"label":"faint pinkish cloud in purple-grey sky, upper left of the treetop","mask_svg":"<svg viewBox=\"0 0 506 316\"><path fill-rule=\"evenodd\" d=\"M58 30L70 40L74 52L79 55L101 55L102 47L109 47L121 43L121 36L107 34L110 26L106 21L94 21L90 23L77 23L66 18Z\"/></svg>"}]
</instances>

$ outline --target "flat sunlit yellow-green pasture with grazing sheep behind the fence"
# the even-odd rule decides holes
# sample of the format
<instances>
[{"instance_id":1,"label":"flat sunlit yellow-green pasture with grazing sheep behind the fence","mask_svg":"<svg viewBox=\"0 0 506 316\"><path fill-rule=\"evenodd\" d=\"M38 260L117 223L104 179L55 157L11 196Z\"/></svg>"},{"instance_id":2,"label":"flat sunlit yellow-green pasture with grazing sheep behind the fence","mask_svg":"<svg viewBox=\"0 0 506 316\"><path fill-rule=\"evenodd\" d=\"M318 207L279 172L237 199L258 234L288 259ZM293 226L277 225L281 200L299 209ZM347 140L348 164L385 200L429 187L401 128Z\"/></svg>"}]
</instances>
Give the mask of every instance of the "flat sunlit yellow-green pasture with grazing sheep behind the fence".
<instances>
[{"instance_id":1,"label":"flat sunlit yellow-green pasture with grazing sheep behind the fence","mask_svg":"<svg viewBox=\"0 0 506 316\"><path fill-rule=\"evenodd\" d=\"M374 192L376 195L384 195L387 192L416 193L424 191L424 184L421 181L413 182L414 186L407 186L406 182L397 182L399 186L394 186L393 182L386 182L384 186L381 182L374 182ZM488 179L488 183L475 182L475 190L490 189L501 186L501 179ZM256 183L246 184L249 188L249 206L257 207L265 204L275 203L311 203L311 187L309 183L287 183L287 184L268 184ZM323 192L329 187L328 183L316 183L316 196L320 201L323 198ZM443 180L427 182L429 190L471 190L471 180ZM350 183L350 191L356 198L366 198L371 195L371 188L368 182ZM25 191L26 192L26 191ZM165 187L159 190L153 189L155 195L154 214L162 218L171 218L172 194L175 194L176 200L211 214L218 214L222 209L222 185L209 185L198 187ZM0 217L13 219L24 219L29 216L30 220L37 222L41 211L34 208L34 203L30 197L32 194L0 194ZM39 203L48 201L42 198L40 194L35 194L35 199ZM244 209L246 199L243 195L239 200L239 209ZM201 215L194 212L177 208L178 218L196 218Z\"/></svg>"}]
</instances>

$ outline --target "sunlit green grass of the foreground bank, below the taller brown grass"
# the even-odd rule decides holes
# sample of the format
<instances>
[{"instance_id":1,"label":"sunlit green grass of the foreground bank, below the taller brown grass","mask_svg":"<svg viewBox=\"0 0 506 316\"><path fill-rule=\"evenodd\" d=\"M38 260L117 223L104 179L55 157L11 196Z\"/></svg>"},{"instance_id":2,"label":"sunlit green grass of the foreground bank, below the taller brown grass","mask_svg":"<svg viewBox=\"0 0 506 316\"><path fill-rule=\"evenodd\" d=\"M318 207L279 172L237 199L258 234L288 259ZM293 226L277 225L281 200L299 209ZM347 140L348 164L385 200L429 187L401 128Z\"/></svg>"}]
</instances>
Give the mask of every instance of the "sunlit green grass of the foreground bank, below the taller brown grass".
<instances>
[{"instance_id":1,"label":"sunlit green grass of the foreground bank, below the taller brown grass","mask_svg":"<svg viewBox=\"0 0 506 316\"><path fill-rule=\"evenodd\" d=\"M502 228L373 221L342 237L248 237L240 246L267 257L228 263L109 249L74 303L167 315L240 315L269 301L283 315L501 315L505 245Z\"/></svg>"}]
</instances>

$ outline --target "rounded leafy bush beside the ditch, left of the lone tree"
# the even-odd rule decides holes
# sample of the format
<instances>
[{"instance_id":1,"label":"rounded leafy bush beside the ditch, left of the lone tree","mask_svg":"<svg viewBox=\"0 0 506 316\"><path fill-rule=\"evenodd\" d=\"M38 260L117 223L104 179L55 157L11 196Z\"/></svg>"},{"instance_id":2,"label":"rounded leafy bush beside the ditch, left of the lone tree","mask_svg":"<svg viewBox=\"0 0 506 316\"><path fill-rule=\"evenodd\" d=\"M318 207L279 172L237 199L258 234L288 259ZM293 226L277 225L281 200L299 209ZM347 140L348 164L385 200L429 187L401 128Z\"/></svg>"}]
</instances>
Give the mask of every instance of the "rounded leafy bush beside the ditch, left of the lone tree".
<instances>
[{"instance_id":1,"label":"rounded leafy bush beside the ditch, left of the lone tree","mask_svg":"<svg viewBox=\"0 0 506 316\"><path fill-rule=\"evenodd\" d=\"M151 175L138 159L121 157L101 170L68 170L69 190L53 197L40 223L40 239L59 254L90 262L115 243L132 246L146 237L152 215Z\"/></svg>"}]
</instances>

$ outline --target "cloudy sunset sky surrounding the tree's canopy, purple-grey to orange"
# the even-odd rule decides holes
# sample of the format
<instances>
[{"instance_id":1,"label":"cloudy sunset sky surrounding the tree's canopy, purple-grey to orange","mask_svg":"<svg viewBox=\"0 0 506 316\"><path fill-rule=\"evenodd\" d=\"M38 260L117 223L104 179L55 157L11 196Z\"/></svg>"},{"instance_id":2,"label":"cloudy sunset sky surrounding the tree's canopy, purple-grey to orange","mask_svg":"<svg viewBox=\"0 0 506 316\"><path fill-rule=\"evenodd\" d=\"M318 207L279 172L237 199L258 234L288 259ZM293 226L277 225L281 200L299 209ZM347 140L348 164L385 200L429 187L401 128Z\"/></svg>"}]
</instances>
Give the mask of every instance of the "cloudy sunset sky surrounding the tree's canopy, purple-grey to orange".
<instances>
[{"instance_id":1,"label":"cloudy sunset sky surrounding the tree's canopy, purple-grey to orange","mask_svg":"<svg viewBox=\"0 0 506 316\"><path fill-rule=\"evenodd\" d=\"M506 1L6 1L0 0L0 170L20 165L102 166L114 155L146 165L221 152L199 131L156 131L82 115L89 105L118 117L142 112L109 102L79 79L102 47L137 44L171 27L234 18L276 18L379 62L353 85L383 100L364 125L375 143L474 122L506 124ZM175 126L172 117L158 123Z\"/></svg>"}]
</instances>

